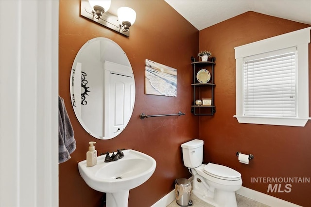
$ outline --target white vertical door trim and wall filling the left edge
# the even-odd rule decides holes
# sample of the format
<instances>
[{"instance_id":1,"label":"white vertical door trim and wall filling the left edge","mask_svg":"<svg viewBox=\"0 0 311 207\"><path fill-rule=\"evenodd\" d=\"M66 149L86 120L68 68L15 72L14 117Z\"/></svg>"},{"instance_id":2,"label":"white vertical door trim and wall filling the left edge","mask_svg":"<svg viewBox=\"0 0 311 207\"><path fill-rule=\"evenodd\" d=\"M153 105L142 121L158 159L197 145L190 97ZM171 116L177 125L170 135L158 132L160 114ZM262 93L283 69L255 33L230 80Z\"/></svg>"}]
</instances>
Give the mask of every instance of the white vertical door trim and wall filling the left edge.
<instances>
[{"instance_id":1,"label":"white vertical door trim and wall filling the left edge","mask_svg":"<svg viewBox=\"0 0 311 207\"><path fill-rule=\"evenodd\" d=\"M0 206L58 206L57 0L0 0Z\"/></svg>"}]
</instances>

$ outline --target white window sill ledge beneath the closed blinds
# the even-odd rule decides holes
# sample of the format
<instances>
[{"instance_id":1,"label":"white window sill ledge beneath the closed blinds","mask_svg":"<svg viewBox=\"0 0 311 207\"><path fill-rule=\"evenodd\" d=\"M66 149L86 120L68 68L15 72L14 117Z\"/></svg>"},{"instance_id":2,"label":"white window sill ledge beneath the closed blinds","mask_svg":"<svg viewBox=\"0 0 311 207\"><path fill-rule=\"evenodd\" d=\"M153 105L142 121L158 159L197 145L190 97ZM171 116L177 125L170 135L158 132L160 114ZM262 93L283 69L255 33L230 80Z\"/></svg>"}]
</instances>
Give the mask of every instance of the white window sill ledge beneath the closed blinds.
<instances>
[{"instance_id":1,"label":"white window sill ledge beneath the closed blinds","mask_svg":"<svg viewBox=\"0 0 311 207\"><path fill-rule=\"evenodd\" d=\"M234 115L239 123L245 124L265 124L265 125L280 125L280 126L293 126L304 127L310 117L297 118L297 117L260 117L260 116L238 116Z\"/></svg>"}]
</instances>

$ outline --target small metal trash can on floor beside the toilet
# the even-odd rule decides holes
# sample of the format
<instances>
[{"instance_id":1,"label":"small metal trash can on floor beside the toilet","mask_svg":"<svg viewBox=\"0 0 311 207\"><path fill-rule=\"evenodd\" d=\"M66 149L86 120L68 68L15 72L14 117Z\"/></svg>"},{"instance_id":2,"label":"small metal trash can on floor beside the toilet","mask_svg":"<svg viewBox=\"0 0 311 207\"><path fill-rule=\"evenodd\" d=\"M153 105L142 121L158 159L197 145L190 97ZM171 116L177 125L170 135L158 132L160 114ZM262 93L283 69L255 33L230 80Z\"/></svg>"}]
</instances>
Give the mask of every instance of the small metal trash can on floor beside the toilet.
<instances>
[{"instance_id":1,"label":"small metal trash can on floor beside the toilet","mask_svg":"<svg viewBox=\"0 0 311 207\"><path fill-rule=\"evenodd\" d=\"M192 201L190 200L191 195L191 184L186 178L179 178L175 181L175 197L176 203L181 207L192 206Z\"/></svg>"}]
</instances>

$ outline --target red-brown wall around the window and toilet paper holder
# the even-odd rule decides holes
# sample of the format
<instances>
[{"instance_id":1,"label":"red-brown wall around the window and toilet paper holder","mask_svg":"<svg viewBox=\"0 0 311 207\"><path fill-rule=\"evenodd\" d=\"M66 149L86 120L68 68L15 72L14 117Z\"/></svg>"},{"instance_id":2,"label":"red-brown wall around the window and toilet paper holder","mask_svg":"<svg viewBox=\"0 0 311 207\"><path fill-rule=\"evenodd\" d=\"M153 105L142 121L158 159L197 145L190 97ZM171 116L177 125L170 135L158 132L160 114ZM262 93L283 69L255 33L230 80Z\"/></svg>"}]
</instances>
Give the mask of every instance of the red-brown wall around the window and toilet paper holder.
<instances>
[{"instance_id":1,"label":"red-brown wall around the window and toilet paper holder","mask_svg":"<svg viewBox=\"0 0 311 207\"><path fill-rule=\"evenodd\" d=\"M213 117L200 117L199 137L205 141L204 161L229 166L242 174L243 186L267 193L269 183L251 182L258 177L311 177L311 121L305 127L239 124L236 111L234 47L292 32L310 25L247 12L200 31L200 50L216 57ZM309 65L311 46L309 45ZM309 66L309 72L310 66ZM309 79L311 83L311 78ZM309 84L311 103L311 84ZM311 111L311 108L309 109ZM239 163L236 152L253 154L249 165ZM281 191L287 183L281 183ZM289 183L291 191L267 193L311 207L311 183ZM274 183L273 183L274 185ZM289 186L288 186L289 187Z\"/></svg>"}]
</instances>

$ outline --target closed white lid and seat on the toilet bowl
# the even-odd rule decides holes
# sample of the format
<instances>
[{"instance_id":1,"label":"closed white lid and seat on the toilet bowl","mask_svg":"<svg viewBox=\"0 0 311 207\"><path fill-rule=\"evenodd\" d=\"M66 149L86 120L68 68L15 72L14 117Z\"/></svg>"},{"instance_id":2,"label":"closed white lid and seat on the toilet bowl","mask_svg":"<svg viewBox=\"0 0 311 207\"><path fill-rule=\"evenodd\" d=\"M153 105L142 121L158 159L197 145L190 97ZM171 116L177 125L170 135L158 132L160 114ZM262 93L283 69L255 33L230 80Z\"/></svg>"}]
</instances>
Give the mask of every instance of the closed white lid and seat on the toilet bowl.
<instances>
[{"instance_id":1,"label":"closed white lid and seat on the toilet bowl","mask_svg":"<svg viewBox=\"0 0 311 207\"><path fill-rule=\"evenodd\" d=\"M241 179L241 174L238 171L233 170L223 165L208 163L203 168L203 171L207 175L210 175L212 177L222 179L222 180L240 180Z\"/></svg>"}]
</instances>

